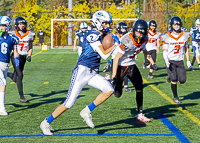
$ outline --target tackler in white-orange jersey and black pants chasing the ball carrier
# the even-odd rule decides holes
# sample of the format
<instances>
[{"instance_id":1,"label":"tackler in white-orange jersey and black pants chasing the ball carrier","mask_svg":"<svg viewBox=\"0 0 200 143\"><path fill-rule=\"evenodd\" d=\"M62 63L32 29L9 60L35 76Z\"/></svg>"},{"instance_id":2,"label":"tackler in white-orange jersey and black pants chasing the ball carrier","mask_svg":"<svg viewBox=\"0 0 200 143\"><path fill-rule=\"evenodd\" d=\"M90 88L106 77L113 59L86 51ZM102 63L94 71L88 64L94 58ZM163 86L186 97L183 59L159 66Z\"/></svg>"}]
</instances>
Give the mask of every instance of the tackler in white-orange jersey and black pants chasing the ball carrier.
<instances>
[{"instance_id":1,"label":"tackler in white-orange jersey and black pants chasing the ball carrier","mask_svg":"<svg viewBox=\"0 0 200 143\"><path fill-rule=\"evenodd\" d=\"M120 38L120 49L113 61L113 73L111 83L114 87L114 95L119 98L122 95L122 82L127 76L136 89L136 102L138 109L137 120L141 122L150 122L151 119L144 116L143 109L143 84L142 76L135 63L135 56L141 51L147 53L145 45L148 41L148 25L145 20L139 19L133 25L132 32L129 32ZM151 67L157 70L150 55L147 54Z\"/></svg>"}]
</instances>

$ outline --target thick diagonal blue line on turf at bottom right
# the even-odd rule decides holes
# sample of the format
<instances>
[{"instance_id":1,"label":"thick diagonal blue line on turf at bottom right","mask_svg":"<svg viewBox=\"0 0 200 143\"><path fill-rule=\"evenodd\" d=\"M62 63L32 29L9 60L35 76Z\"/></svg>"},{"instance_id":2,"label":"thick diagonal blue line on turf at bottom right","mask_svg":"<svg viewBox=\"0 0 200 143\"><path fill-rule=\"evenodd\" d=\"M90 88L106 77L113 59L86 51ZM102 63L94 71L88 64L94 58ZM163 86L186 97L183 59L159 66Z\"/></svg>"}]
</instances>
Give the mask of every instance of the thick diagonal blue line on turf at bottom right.
<instances>
[{"instance_id":1,"label":"thick diagonal blue line on turf at bottom right","mask_svg":"<svg viewBox=\"0 0 200 143\"><path fill-rule=\"evenodd\" d=\"M178 140L182 143L189 143L190 141L184 136L178 128L174 126L163 114L156 114L167 128L175 134Z\"/></svg>"}]
</instances>

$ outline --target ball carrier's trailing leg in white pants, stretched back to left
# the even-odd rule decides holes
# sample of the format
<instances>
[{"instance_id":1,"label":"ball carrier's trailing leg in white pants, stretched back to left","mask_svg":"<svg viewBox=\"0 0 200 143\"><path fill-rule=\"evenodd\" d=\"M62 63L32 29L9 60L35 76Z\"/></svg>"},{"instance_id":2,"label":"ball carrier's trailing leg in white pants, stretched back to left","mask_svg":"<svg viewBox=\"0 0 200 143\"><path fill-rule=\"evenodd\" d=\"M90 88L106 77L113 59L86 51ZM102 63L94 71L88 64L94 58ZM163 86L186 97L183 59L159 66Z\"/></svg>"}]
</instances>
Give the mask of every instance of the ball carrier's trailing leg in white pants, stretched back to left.
<instances>
[{"instance_id":1,"label":"ball carrier's trailing leg in white pants, stretched back to left","mask_svg":"<svg viewBox=\"0 0 200 143\"><path fill-rule=\"evenodd\" d=\"M88 70L84 66L78 66L73 70L70 87L67 97L63 104L59 105L54 112L45 118L40 124L40 128L45 135L52 135L50 123L53 122L58 116L60 116L67 109L72 108L82 88L87 84L91 78L87 75Z\"/></svg>"}]
</instances>

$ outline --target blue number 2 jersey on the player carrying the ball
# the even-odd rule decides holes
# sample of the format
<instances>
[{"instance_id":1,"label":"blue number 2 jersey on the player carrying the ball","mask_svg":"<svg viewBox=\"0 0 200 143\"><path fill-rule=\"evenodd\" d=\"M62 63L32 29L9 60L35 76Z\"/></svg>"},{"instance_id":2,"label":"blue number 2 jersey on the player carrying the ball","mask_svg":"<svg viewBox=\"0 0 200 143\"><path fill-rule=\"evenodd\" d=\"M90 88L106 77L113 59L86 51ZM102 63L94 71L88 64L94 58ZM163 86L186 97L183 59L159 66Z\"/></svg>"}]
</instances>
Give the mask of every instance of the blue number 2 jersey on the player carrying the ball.
<instances>
[{"instance_id":1,"label":"blue number 2 jersey on the player carrying the ball","mask_svg":"<svg viewBox=\"0 0 200 143\"><path fill-rule=\"evenodd\" d=\"M101 56L90 44L95 42L101 43L102 39L103 36L97 30L93 29L85 32L82 54L78 59L78 65L83 65L92 69L99 69Z\"/></svg>"}]
</instances>

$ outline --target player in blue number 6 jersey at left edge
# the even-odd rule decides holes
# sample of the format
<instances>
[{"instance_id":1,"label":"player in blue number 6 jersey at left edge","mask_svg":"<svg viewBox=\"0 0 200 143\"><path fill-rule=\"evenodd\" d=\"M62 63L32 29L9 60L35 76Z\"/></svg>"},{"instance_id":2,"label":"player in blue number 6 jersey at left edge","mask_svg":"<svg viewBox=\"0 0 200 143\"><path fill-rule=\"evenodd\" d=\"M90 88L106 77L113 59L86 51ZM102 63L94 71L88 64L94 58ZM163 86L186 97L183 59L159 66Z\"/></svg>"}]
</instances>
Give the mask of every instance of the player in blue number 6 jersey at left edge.
<instances>
[{"instance_id":1,"label":"player in blue number 6 jersey at left edge","mask_svg":"<svg viewBox=\"0 0 200 143\"><path fill-rule=\"evenodd\" d=\"M5 90L6 90L6 77L10 63L10 53L13 50L14 60L19 66L19 58L16 49L16 45L19 43L19 39L8 34L8 30L11 28L11 19L8 16L0 17L0 115L8 115L5 109Z\"/></svg>"}]
</instances>

